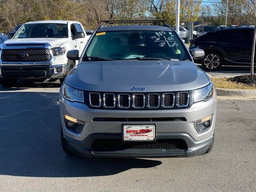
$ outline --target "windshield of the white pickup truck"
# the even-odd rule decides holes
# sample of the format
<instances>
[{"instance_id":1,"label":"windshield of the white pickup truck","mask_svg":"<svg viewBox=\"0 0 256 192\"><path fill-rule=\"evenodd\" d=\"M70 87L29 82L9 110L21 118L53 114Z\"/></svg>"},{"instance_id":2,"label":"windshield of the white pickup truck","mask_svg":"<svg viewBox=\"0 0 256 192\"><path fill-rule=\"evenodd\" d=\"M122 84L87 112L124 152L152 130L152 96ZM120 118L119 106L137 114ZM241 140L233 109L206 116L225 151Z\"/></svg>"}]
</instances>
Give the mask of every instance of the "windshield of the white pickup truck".
<instances>
[{"instance_id":1,"label":"windshield of the white pickup truck","mask_svg":"<svg viewBox=\"0 0 256 192\"><path fill-rule=\"evenodd\" d=\"M22 26L14 39L18 38L67 38L67 24L38 23Z\"/></svg>"}]
</instances>

